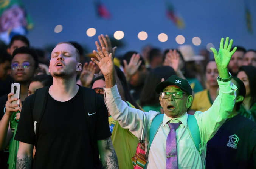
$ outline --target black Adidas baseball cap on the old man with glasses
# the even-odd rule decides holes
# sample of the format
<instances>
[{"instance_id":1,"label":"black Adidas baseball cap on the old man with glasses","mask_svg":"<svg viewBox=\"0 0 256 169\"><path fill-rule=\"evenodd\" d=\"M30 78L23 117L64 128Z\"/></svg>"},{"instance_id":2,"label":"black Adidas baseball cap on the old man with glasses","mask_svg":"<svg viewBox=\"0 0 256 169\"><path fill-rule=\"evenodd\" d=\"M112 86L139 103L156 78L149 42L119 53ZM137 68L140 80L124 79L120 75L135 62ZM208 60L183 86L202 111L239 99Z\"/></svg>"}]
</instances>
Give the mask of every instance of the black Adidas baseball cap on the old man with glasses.
<instances>
[{"instance_id":1,"label":"black Adidas baseball cap on the old man with glasses","mask_svg":"<svg viewBox=\"0 0 256 169\"><path fill-rule=\"evenodd\" d=\"M192 88L189 85L188 81L186 79L179 78L176 75L172 75L166 81L158 83L157 86L155 87L155 92L157 92L157 94L160 94L161 92L163 92L164 88L170 85L179 86L181 89L188 92L189 95L192 95Z\"/></svg>"}]
</instances>

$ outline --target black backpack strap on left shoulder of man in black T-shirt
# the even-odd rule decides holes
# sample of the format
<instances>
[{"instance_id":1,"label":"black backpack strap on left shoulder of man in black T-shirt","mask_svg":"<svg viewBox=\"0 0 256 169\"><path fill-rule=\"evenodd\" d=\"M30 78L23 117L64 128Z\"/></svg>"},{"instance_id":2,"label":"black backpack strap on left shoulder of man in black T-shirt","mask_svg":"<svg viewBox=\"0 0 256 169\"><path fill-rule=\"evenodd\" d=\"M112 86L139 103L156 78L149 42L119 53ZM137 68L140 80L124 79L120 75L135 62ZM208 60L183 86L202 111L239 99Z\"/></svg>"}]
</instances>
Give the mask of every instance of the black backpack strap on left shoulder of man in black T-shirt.
<instances>
[{"instance_id":1,"label":"black backpack strap on left shoulder of man in black T-shirt","mask_svg":"<svg viewBox=\"0 0 256 169\"><path fill-rule=\"evenodd\" d=\"M35 147L37 145L39 125L42 120L43 113L45 111L49 88L50 86L39 88L34 93L32 117L34 121Z\"/></svg>"}]
</instances>

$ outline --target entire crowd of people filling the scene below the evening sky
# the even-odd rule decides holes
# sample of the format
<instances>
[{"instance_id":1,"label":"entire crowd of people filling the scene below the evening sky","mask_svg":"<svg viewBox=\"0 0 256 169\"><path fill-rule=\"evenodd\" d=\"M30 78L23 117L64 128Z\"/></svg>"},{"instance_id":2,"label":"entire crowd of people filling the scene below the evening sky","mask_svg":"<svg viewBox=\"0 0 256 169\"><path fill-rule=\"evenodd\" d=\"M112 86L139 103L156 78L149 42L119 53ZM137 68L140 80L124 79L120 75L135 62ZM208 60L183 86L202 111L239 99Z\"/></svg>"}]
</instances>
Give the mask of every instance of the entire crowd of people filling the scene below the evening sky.
<instances>
[{"instance_id":1,"label":"entire crowd of people filling the scene below the evening sky","mask_svg":"<svg viewBox=\"0 0 256 169\"><path fill-rule=\"evenodd\" d=\"M256 50L222 38L214 59L190 45L117 58L98 39L48 62L21 35L0 49L1 169L256 168Z\"/></svg>"}]
</instances>

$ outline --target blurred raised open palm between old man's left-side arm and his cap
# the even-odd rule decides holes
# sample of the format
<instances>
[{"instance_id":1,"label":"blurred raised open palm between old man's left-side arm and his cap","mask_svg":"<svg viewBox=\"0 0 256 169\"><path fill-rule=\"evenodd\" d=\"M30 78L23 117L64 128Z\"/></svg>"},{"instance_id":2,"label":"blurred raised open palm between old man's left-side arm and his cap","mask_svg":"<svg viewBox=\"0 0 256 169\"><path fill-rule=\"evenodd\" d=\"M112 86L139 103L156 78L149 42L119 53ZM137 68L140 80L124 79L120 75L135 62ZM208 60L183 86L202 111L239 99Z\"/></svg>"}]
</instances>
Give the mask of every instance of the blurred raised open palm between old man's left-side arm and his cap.
<instances>
[{"instance_id":1,"label":"blurred raised open palm between old man's left-side arm and his cap","mask_svg":"<svg viewBox=\"0 0 256 169\"><path fill-rule=\"evenodd\" d=\"M130 59L129 64L127 64L126 60L124 62L124 73L126 74L127 81L129 78L135 74L135 72L139 69L141 65L140 54L133 54L132 58Z\"/></svg>"}]
</instances>

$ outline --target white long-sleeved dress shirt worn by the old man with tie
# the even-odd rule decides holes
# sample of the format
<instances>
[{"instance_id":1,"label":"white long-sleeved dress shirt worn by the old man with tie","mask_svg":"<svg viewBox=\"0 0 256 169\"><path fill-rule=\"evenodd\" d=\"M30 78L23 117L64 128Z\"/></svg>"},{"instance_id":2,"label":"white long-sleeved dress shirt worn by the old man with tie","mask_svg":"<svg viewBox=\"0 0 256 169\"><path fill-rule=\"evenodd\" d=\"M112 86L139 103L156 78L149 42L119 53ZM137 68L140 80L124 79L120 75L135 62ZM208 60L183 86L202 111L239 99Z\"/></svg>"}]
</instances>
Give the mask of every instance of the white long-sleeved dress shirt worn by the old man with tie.
<instances>
[{"instance_id":1,"label":"white long-sleeved dress shirt worn by the old man with tie","mask_svg":"<svg viewBox=\"0 0 256 169\"><path fill-rule=\"evenodd\" d=\"M187 127L188 114L181 117L171 118L164 114L163 124L160 126L154 140L152 141L147 169L165 169L166 167L166 139L170 132L169 121L172 123L182 122L176 130L177 138L177 160L179 169L204 169L206 156L206 143L218 131L220 126L225 122L227 116L234 108L236 100L235 90L237 87L230 82L219 82L220 93L214 101L211 108L205 112L195 112L203 152L200 156L194 141L192 140ZM122 128L129 129L136 137L140 139L143 127L143 112L138 109L130 108L118 93L117 86L104 88L105 103L114 120L118 120ZM159 112L149 111L146 114L146 132L145 151L149 149L149 129L152 120ZM207 161L206 161L207 162Z\"/></svg>"}]
</instances>

